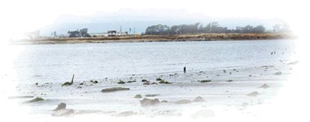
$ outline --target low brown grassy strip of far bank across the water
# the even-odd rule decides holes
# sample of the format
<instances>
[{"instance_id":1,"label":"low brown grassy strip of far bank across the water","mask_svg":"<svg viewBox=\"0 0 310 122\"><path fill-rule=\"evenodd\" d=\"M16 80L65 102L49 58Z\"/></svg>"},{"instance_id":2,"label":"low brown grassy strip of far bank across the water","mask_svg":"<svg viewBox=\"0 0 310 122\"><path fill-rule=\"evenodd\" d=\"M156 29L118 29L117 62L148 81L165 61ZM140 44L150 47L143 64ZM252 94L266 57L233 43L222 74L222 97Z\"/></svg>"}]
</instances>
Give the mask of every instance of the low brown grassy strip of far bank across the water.
<instances>
[{"instance_id":1,"label":"low brown grassy strip of far bank across the water","mask_svg":"<svg viewBox=\"0 0 310 122\"><path fill-rule=\"evenodd\" d=\"M288 40L297 39L293 33L187 33L182 35L140 35L117 37L44 37L32 40L13 40L9 44L80 44L115 42L190 42L221 40Z\"/></svg>"}]
</instances>

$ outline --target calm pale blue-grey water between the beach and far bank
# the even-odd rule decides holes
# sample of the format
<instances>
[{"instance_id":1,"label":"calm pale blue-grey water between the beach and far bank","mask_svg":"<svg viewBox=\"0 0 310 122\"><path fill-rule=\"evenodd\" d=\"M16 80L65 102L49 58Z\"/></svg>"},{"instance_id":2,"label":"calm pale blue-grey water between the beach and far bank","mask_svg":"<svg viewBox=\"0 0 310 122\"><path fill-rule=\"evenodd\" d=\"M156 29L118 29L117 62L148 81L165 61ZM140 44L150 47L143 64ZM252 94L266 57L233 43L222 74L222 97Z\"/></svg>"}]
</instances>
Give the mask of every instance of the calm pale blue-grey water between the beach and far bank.
<instances>
[{"instance_id":1,"label":"calm pale blue-grey water between the beach and far bank","mask_svg":"<svg viewBox=\"0 0 310 122\"><path fill-rule=\"evenodd\" d=\"M40 44L12 62L21 84L128 77L132 74L208 71L279 64L294 55L293 40ZM270 55L275 51L276 54Z\"/></svg>"}]
</instances>

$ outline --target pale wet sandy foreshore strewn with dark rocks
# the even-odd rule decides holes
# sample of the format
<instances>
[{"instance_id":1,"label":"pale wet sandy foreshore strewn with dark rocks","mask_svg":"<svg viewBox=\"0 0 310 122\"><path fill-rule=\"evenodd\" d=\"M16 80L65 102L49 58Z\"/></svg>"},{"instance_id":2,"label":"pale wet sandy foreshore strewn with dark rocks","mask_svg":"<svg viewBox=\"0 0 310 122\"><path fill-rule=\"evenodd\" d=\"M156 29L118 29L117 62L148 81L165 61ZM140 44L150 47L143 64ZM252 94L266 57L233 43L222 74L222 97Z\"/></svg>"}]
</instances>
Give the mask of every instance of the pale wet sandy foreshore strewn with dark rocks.
<instances>
[{"instance_id":1,"label":"pale wet sandy foreshore strewn with dark rocks","mask_svg":"<svg viewBox=\"0 0 310 122\"><path fill-rule=\"evenodd\" d=\"M275 66L253 66L240 68L206 69L203 71L188 70L171 73L132 74L123 78L102 78L98 83L74 80L73 85L63 86L60 83L46 82L38 85L17 85L16 94L6 96L34 96L45 101L24 103L33 98L8 99L8 103L17 103L19 109L26 110L26 118L32 121L42 120L230 120L257 119L283 116L278 110L279 101L283 100L282 89L286 82L291 82L293 70L298 64L290 61L279 62ZM281 73L279 73L281 72ZM159 84L161 78L172 84ZM117 84L119 79L125 84ZM143 85L142 79L157 82L157 85ZM128 83L129 80L136 82ZM211 80L199 82L198 80ZM230 80L228 82L227 80ZM232 81L231 81L232 80ZM83 83L83 85L80 85ZM264 84L268 87L261 87ZM103 93L101 89L126 87L130 90ZM251 93L254 93L251 94ZM134 98L141 94L142 98ZM146 94L159 94L146 97ZM249 95L251 94L251 95ZM177 101L202 97L204 102L175 104ZM168 101L154 106L142 107L143 98ZM74 114L66 117L52 117L58 104L66 103L67 109ZM286 102L284 102L286 103ZM286 107L289 108L289 107ZM23 111L20 111L23 112ZM20 114L20 112L17 112ZM14 112L13 112L14 113ZM286 109L285 114L295 116L295 111ZM25 114L25 113L21 113ZM290 117L290 116L284 116Z\"/></svg>"}]
</instances>

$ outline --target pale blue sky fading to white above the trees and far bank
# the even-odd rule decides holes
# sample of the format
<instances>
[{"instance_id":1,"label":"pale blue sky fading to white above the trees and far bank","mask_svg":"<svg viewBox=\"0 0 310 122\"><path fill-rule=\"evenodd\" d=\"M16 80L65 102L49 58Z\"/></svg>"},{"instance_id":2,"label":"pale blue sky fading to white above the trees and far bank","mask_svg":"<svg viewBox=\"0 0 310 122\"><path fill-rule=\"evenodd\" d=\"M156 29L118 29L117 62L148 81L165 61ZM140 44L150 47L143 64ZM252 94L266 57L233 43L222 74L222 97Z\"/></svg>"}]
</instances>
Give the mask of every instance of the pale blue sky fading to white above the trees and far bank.
<instances>
[{"instance_id":1,"label":"pale blue sky fading to white above the trees and far bank","mask_svg":"<svg viewBox=\"0 0 310 122\"><path fill-rule=\"evenodd\" d=\"M1 5L4 20L3 40L23 38L28 31L40 30L42 35L67 30L89 28L89 33L123 30L135 27L137 33L147 26L203 23L218 21L220 26L233 28L250 24L291 26L302 35L307 24L305 1L4 1ZM268 21L268 22L266 22ZM271 21L271 22L270 22ZM238 24L238 25L232 25ZM244 25L244 26L246 26Z\"/></svg>"}]
</instances>

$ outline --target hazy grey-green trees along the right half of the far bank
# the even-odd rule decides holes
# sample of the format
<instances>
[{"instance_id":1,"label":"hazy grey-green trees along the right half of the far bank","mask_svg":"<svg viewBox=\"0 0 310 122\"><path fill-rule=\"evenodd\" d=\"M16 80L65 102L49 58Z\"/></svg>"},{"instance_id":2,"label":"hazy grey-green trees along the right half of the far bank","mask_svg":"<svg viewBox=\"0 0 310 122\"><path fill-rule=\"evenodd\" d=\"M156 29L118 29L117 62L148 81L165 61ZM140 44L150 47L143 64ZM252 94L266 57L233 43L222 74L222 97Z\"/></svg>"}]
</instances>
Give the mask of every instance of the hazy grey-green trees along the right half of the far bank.
<instances>
[{"instance_id":1,"label":"hazy grey-green trees along the right half of the far bank","mask_svg":"<svg viewBox=\"0 0 310 122\"><path fill-rule=\"evenodd\" d=\"M279 29L279 24L276 25L274 32L290 32L289 26L284 24L284 29ZM158 24L156 26L148 26L146 28L146 35L178 35L183 33L265 33L264 26L236 26L235 29L228 29L227 27L222 27L218 22L211 22L207 26L203 26L199 22L196 24L182 24L176 26L166 26Z\"/></svg>"}]
</instances>

